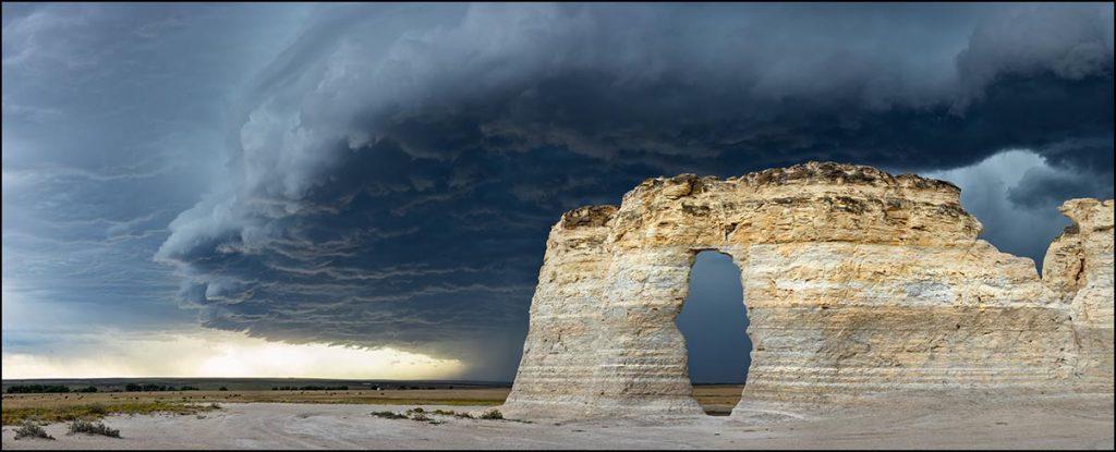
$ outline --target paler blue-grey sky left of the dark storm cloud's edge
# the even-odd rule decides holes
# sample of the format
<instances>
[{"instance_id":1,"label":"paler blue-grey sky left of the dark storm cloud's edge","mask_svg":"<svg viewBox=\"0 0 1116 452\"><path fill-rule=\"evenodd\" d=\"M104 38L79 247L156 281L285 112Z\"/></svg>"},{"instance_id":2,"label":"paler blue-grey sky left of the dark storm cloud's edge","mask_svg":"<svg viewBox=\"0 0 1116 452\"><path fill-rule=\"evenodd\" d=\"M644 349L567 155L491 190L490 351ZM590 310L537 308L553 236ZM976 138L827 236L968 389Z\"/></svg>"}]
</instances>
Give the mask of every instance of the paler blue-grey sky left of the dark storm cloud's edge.
<instances>
[{"instance_id":1,"label":"paler blue-grey sky left of the dark storm cloud's edge","mask_svg":"<svg viewBox=\"0 0 1116 452\"><path fill-rule=\"evenodd\" d=\"M222 97L280 36L261 17L3 3L6 356L196 328L152 254L220 167Z\"/></svg>"}]
</instances>

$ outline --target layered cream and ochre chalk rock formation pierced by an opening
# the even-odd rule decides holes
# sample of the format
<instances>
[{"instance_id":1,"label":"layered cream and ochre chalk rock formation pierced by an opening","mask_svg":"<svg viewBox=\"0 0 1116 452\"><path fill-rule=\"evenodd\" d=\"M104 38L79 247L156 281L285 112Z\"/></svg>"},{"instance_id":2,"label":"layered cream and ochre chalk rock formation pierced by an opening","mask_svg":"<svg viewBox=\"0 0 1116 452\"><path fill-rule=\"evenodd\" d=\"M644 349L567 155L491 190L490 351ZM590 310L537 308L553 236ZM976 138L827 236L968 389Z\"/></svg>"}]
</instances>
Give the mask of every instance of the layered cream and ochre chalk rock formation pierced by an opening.
<instances>
[{"instance_id":1,"label":"layered cream and ochre chalk rock formation pierced by an opening","mask_svg":"<svg viewBox=\"0 0 1116 452\"><path fill-rule=\"evenodd\" d=\"M698 252L741 269L740 406L882 393L1113 392L1113 202L1030 259L979 240L960 190L807 163L644 181L551 228L509 417L700 415L674 319ZM739 408L739 407L738 407Z\"/></svg>"}]
</instances>

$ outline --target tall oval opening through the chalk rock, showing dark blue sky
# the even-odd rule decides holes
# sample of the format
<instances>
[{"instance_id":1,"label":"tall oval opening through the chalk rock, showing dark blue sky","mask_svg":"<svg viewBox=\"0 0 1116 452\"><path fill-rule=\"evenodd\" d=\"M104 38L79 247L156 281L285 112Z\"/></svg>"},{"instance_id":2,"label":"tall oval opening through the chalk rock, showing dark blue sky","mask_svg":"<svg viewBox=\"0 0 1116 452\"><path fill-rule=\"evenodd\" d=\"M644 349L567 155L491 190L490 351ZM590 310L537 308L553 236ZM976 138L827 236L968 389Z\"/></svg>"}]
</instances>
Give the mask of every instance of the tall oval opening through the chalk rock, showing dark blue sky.
<instances>
[{"instance_id":1,"label":"tall oval opening through the chalk rock, showing dark blue sky","mask_svg":"<svg viewBox=\"0 0 1116 452\"><path fill-rule=\"evenodd\" d=\"M752 352L740 268L728 254L703 250L689 285L674 323L685 338L693 396L706 414L729 415L740 402Z\"/></svg>"}]
</instances>

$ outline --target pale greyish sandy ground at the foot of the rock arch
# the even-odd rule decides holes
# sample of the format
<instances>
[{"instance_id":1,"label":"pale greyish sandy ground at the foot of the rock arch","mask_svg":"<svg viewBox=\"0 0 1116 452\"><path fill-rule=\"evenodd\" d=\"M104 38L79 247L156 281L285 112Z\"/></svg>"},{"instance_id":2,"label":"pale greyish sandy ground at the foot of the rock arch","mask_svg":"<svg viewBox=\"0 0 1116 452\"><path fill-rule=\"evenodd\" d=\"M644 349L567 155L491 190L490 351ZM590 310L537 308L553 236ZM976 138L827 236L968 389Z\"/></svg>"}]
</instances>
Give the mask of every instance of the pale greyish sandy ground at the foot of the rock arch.
<instances>
[{"instance_id":1,"label":"pale greyish sandy ground at the foot of the rock arch","mask_svg":"<svg viewBox=\"0 0 1116 452\"><path fill-rule=\"evenodd\" d=\"M198 416L110 416L122 439L66 435L13 440L3 449L1113 449L1113 397L1027 403L923 401L857 410L756 404L733 416L670 422L535 422L435 416L443 424L386 420L373 411L413 405L227 403ZM470 410L463 406L426 405ZM472 407L483 410L483 407Z\"/></svg>"}]
</instances>

